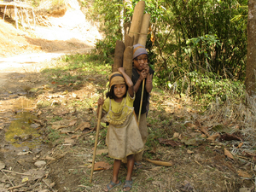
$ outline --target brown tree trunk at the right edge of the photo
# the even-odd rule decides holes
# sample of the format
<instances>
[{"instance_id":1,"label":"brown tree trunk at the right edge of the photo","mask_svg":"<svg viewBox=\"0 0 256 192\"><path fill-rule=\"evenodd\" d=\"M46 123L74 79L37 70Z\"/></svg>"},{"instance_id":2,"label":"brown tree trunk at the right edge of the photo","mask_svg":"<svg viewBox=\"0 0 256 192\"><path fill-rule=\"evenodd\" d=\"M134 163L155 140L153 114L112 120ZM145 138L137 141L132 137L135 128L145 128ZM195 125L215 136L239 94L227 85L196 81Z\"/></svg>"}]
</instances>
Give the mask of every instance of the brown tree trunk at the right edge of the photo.
<instances>
[{"instance_id":1,"label":"brown tree trunk at the right edge of the photo","mask_svg":"<svg viewBox=\"0 0 256 192\"><path fill-rule=\"evenodd\" d=\"M248 1L246 90L256 97L256 1Z\"/></svg>"}]
</instances>

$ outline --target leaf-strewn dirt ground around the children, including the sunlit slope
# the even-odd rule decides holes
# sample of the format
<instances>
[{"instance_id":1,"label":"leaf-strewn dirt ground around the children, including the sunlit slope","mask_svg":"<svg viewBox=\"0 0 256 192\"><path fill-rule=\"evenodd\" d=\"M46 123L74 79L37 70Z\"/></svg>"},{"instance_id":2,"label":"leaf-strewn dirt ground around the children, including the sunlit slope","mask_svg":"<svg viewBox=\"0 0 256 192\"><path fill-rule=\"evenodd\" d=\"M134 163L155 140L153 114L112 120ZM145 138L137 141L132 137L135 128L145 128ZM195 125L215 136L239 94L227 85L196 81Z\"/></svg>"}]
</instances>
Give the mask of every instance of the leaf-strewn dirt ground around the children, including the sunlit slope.
<instances>
[{"instance_id":1,"label":"leaf-strewn dirt ground around the children, including the sunlit slope","mask_svg":"<svg viewBox=\"0 0 256 192\"><path fill-rule=\"evenodd\" d=\"M38 26L32 32L16 31L13 20L0 18L1 192L102 191L111 179L113 160L102 144L103 131L96 162L104 164L90 183L96 108L80 111L79 104L67 108L71 102L97 99L97 88L106 83L105 77L88 73L80 79L82 86L52 89L47 84L54 82L41 73L44 67L55 67L51 58L83 54L100 37L93 27L86 34L68 28L64 20L72 13L67 14L52 18L52 26ZM61 26L54 25L61 20ZM151 140L142 167L135 167L132 174L131 191L255 191L256 148L252 148L254 140L241 131L242 122L201 113L188 99L157 90L150 105ZM55 131L49 132L49 126ZM165 135L157 135L158 130ZM157 165L163 162L168 166ZM124 164L119 172L122 182L125 172ZM122 185L112 191L121 190Z\"/></svg>"}]
</instances>

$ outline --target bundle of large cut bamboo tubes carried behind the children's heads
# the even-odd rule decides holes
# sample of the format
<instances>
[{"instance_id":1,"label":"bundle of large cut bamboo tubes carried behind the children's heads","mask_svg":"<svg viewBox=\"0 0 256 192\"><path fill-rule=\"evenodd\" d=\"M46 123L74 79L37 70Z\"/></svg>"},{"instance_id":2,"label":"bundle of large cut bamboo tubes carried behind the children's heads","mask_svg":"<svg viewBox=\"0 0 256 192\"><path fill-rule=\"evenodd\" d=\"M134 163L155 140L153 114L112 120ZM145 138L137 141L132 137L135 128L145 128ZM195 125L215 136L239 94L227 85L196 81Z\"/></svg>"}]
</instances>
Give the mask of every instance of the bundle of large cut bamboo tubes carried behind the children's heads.
<instances>
[{"instance_id":1,"label":"bundle of large cut bamboo tubes carried behind the children's heads","mask_svg":"<svg viewBox=\"0 0 256 192\"><path fill-rule=\"evenodd\" d=\"M150 15L144 14L145 2L140 1L134 8L131 20L131 28L125 35L125 43L117 41L114 51L113 70L117 72L119 67L125 68L125 73L131 78L133 45L146 45Z\"/></svg>"}]
</instances>

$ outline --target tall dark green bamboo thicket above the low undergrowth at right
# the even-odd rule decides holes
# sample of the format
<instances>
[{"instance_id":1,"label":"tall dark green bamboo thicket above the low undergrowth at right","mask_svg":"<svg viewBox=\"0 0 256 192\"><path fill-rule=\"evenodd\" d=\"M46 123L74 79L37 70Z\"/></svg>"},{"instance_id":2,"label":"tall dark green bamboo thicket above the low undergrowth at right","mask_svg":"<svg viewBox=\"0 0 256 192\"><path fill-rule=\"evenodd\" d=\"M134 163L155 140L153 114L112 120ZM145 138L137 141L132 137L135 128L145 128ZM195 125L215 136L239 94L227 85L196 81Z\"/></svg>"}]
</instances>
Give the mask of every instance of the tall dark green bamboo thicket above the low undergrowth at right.
<instances>
[{"instance_id":1,"label":"tall dark green bamboo thicket above the low undergrowth at right","mask_svg":"<svg viewBox=\"0 0 256 192\"><path fill-rule=\"evenodd\" d=\"M242 79L247 51L246 18L231 21L241 12L246 15L240 5L247 5L247 1L166 1L167 11L162 15L166 21L163 20L156 34L157 39L163 39L158 47L167 63L165 68L173 65L183 66L185 71L211 68L218 75ZM218 43L212 42L214 39ZM192 44L193 49L188 49L187 42L193 40L196 46Z\"/></svg>"}]
</instances>

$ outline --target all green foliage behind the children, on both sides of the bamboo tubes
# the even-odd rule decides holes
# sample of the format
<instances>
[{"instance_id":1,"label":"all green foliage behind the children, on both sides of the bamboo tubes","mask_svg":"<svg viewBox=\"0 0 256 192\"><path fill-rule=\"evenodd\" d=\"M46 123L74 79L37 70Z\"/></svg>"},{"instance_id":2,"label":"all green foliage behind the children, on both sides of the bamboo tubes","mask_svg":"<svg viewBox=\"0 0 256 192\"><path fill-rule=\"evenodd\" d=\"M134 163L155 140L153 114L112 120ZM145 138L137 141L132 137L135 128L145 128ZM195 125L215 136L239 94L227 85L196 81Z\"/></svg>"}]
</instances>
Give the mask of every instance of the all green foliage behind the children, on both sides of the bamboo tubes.
<instances>
[{"instance_id":1,"label":"all green foliage behind the children, on both sides of the bamboo tubes","mask_svg":"<svg viewBox=\"0 0 256 192\"><path fill-rule=\"evenodd\" d=\"M120 20L131 22L138 2L132 0L130 7L120 0L92 1L91 16L102 22L106 34L96 45L99 54L113 55L115 41L122 39ZM154 64L154 86L193 96L206 105L213 100L243 98L247 0L145 3L145 13L151 15L146 47L150 64Z\"/></svg>"}]
</instances>

